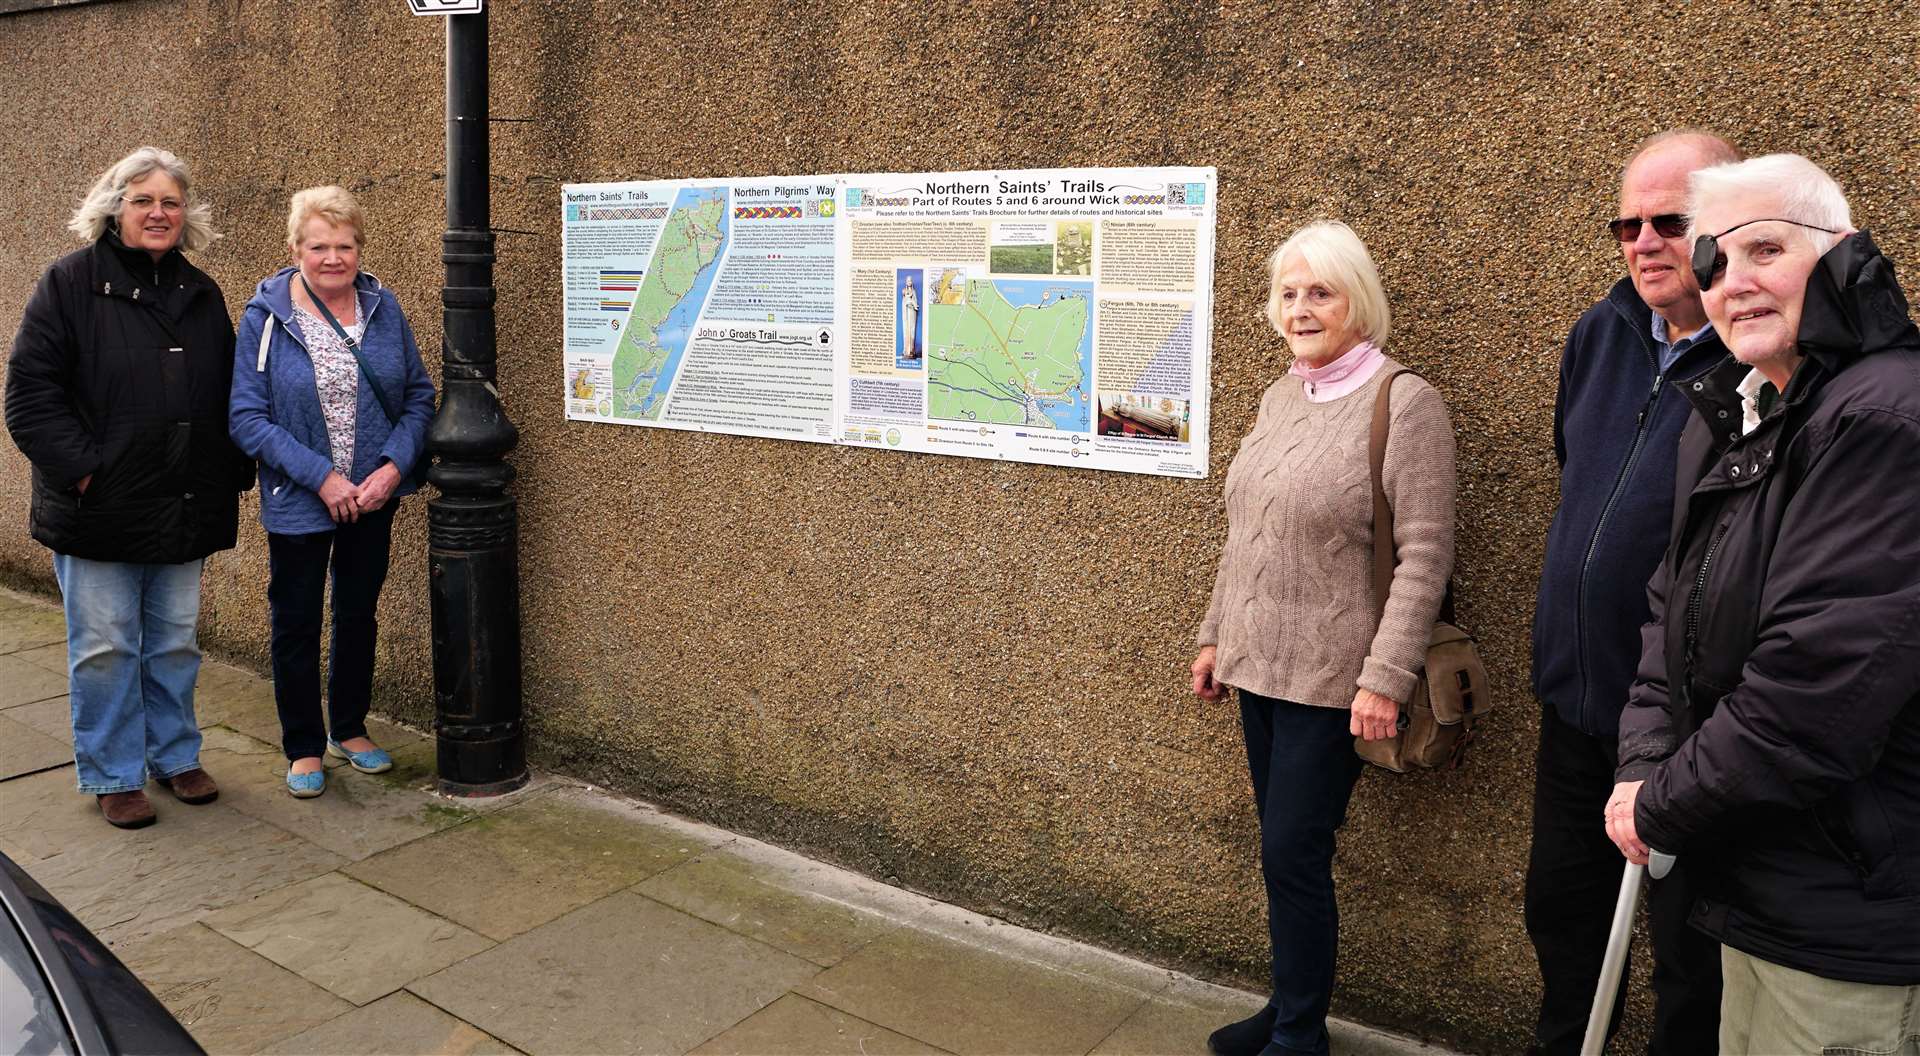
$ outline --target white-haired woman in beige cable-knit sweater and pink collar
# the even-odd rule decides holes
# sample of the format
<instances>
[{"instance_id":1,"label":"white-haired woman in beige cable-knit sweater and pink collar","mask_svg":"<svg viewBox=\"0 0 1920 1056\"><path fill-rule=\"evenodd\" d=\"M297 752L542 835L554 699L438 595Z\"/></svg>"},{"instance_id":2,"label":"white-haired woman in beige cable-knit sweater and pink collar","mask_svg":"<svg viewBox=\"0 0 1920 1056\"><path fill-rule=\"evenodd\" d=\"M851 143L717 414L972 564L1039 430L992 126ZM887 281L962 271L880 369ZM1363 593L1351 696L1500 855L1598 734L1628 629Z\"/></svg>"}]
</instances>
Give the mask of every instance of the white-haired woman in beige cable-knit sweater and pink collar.
<instances>
[{"instance_id":1,"label":"white-haired woman in beige cable-knit sweater and pink collar","mask_svg":"<svg viewBox=\"0 0 1920 1056\"><path fill-rule=\"evenodd\" d=\"M1227 549L1192 664L1200 697L1240 689L1273 937L1273 998L1213 1031L1221 1056L1327 1052L1352 739L1394 733L1453 570L1453 426L1407 374L1392 384L1380 474L1398 563L1375 603L1367 442L1400 365L1380 351L1390 315L1367 248L1342 223L1313 223L1269 269L1267 319L1294 361L1227 470Z\"/></svg>"}]
</instances>

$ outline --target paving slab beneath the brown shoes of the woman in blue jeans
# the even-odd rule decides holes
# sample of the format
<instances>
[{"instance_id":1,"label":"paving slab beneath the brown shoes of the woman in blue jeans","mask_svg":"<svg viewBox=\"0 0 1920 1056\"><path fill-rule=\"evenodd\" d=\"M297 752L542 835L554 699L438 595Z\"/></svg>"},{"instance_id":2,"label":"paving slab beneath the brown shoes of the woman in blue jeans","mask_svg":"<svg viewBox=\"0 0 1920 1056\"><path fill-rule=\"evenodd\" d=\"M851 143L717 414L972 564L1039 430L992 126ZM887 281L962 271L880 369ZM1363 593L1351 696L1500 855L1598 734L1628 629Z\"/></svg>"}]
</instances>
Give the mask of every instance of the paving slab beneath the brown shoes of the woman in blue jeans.
<instances>
[{"instance_id":1,"label":"paving slab beneath the brown shoes of the woman in blue jeans","mask_svg":"<svg viewBox=\"0 0 1920 1056\"><path fill-rule=\"evenodd\" d=\"M188 806L150 787L159 822L115 829L94 797L73 791L71 772L56 770L63 795L21 797L0 783L0 835L36 860L27 872L111 947L171 931L207 912L334 870L346 858L284 829L209 803Z\"/></svg>"}]
</instances>

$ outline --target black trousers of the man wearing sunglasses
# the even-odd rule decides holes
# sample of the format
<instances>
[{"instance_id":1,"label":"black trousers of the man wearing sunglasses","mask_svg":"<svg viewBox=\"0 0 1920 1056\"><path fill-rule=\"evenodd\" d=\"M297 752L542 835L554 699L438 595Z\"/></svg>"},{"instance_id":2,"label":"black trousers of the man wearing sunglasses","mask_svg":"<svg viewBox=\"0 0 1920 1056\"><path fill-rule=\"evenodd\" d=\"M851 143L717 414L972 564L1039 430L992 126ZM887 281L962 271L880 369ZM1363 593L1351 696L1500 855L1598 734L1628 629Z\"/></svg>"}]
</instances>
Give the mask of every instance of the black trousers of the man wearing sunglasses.
<instances>
[{"instance_id":1,"label":"black trousers of the man wearing sunglasses","mask_svg":"<svg viewBox=\"0 0 1920 1056\"><path fill-rule=\"evenodd\" d=\"M1601 812L1613 795L1619 745L1582 733L1553 707L1540 714L1534 768L1534 841L1526 860L1526 937L1540 958L1540 1020L1534 1041L1548 1056L1580 1052L1599 987L1613 904L1626 860L1607 839ZM1647 883L1653 933L1653 1056L1718 1052L1720 945L1688 927L1693 893L1682 860L1667 879ZM1613 1006L1620 1023L1626 998Z\"/></svg>"}]
</instances>

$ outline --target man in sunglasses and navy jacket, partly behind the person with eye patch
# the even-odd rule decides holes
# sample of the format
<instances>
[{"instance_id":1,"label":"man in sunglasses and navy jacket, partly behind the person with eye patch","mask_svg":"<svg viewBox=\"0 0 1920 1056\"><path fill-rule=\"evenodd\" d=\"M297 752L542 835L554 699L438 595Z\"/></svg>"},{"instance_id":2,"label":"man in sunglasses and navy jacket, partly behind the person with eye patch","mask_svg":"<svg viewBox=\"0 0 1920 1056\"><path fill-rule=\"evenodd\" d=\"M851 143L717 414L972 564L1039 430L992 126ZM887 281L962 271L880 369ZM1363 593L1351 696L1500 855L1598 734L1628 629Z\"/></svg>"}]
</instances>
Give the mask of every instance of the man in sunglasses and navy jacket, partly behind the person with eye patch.
<instances>
[{"instance_id":1,"label":"man in sunglasses and navy jacket, partly behind the person with eye patch","mask_svg":"<svg viewBox=\"0 0 1920 1056\"><path fill-rule=\"evenodd\" d=\"M1542 714L1524 902L1542 979L1534 1052L1580 1050L1607 948L1620 858L1594 818L1613 791L1647 576L1672 528L1674 445L1690 411L1672 382L1726 357L1688 269L1688 177L1738 159L1732 144L1699 129L1640 144L1607 225L1626 278L1580 317L1561 357L1561 503L1534 607ZM1686 927L1686 883L1676 870L1651 897L1655 1054L1713 1052L1718 1029L1720 952Z\"/></svg>"}]
</instances>

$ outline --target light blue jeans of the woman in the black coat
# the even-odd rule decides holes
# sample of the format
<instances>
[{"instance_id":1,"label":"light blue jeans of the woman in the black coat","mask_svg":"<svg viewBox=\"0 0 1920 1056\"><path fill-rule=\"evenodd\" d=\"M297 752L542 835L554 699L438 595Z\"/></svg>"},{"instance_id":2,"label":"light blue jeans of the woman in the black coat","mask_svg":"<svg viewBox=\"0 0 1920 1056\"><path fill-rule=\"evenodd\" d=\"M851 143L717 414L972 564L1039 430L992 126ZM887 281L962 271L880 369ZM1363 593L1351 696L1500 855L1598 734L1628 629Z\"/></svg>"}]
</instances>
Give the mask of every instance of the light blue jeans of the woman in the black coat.
<instances>
[{"instance_id":1,"label":"light blue jeans of the woman in the black coat","mask_svg":"<svg viewBox=\"0 0 1920 1056\"><path fill-rule=\"evenodd\" d=\"M200 766L200 566L54 555L67 611L73 762L83 793L146 787Z\"/></svg>"}]
</instances>

